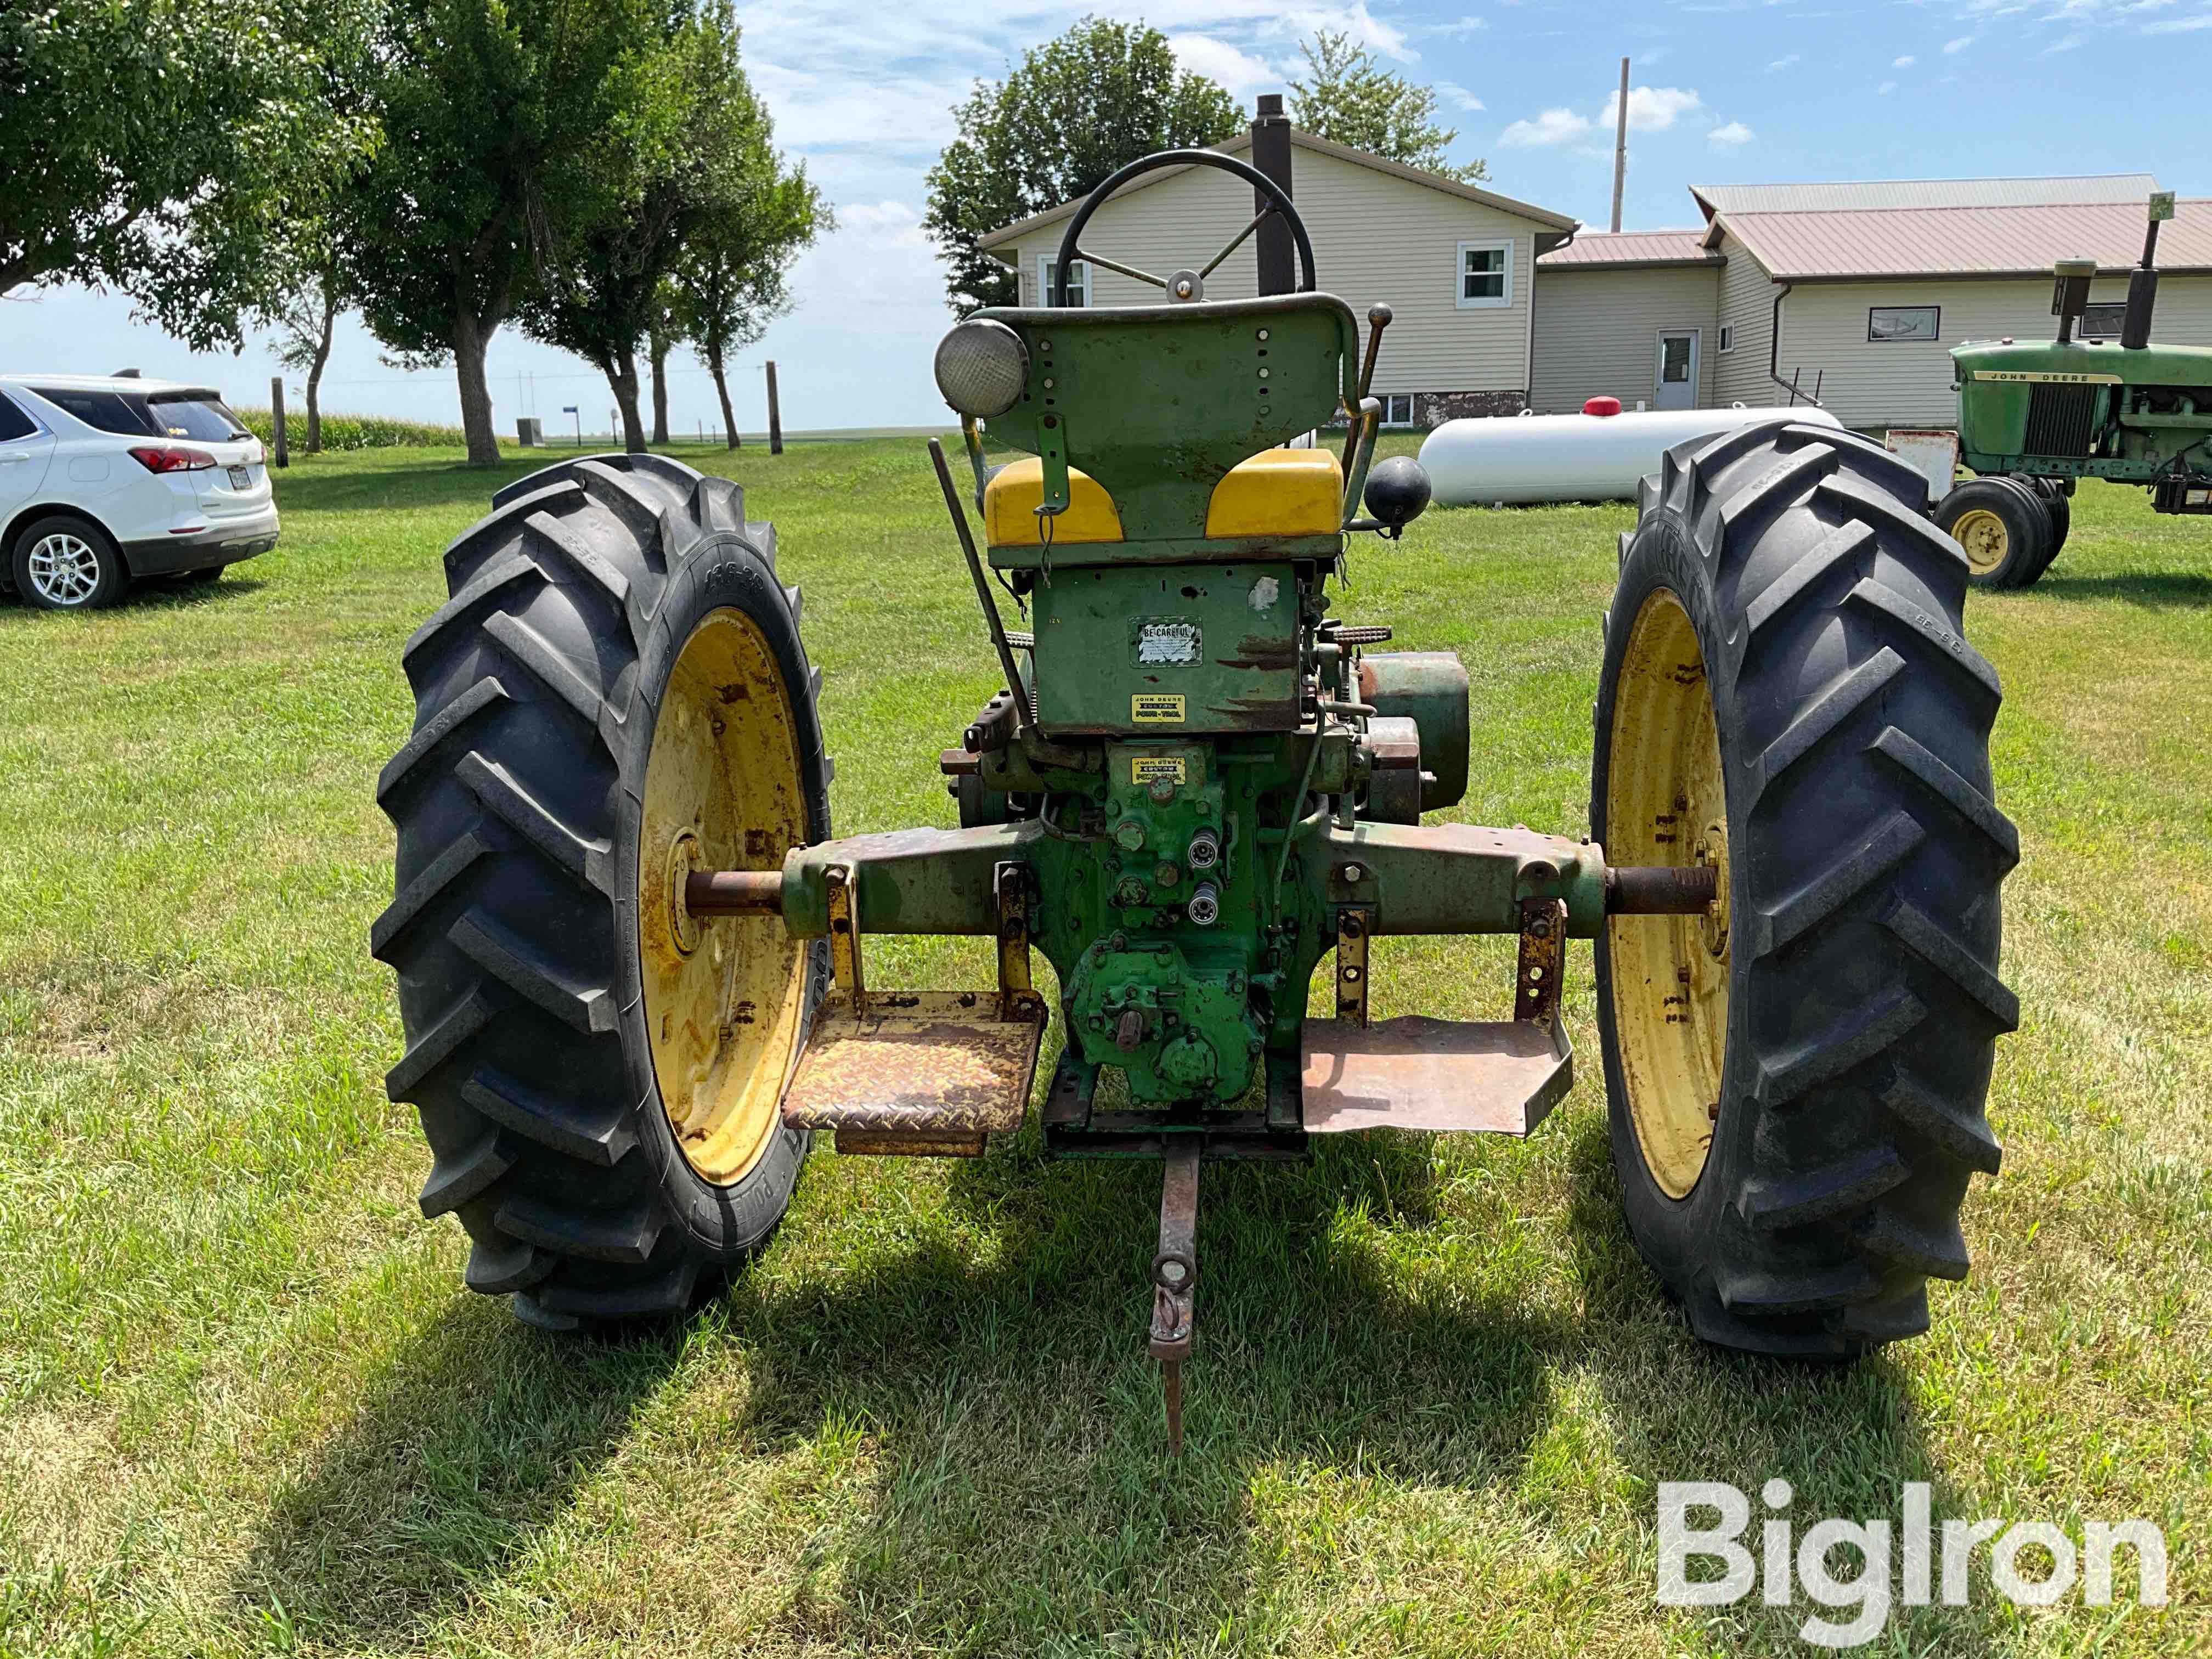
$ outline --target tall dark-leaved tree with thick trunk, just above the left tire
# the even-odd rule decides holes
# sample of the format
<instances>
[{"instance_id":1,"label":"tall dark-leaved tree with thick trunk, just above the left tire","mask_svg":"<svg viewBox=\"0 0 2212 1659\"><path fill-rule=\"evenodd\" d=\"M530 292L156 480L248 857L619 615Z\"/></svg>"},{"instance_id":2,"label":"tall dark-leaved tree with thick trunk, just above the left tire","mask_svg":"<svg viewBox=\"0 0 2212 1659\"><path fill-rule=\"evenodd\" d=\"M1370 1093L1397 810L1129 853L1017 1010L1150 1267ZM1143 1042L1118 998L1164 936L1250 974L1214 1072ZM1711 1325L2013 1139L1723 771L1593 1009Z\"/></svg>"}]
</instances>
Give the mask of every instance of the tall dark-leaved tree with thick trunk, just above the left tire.
<instances>
[{"instance_id":1,"label":"tall dark-leaved tree with thick trunk, just above the left tire","mask_svg":"<svg viewBox=\"0 0 2212 1659\"><path fill-rule=\"evenodd\" d=\"M491 336L653 106L666 33L657 0L389 0L385 146L352 192L343 274L394 363L453 365L473 465L500 458Z\"/></svg>"}]
</instances>

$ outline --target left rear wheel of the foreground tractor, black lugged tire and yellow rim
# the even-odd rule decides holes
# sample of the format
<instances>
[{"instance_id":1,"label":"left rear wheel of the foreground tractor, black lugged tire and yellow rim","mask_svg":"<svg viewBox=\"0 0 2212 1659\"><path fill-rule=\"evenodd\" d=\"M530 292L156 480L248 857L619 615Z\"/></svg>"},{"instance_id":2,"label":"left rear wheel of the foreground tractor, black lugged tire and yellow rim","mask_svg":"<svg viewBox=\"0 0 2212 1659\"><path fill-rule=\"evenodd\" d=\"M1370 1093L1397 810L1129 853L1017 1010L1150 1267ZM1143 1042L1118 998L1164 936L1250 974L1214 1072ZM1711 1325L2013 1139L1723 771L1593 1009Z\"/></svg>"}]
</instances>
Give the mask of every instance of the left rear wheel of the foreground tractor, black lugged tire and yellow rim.
<instances>
[{"instance_id":1,"label":"left rear wheel of the foreground tractor, black lugged tire and yellow rim","mask_svg":"<svg viewBox=\"0 0 2212 1659\"><path fill-rule=\"evenodd\" d=\"M830 834L799 588L743 493L657 456L493 495L407 641L414 737L376 796L434 1168L467 1283L522 1318L681 1314L757 1252L807 1155L779 1099L827 956L779 918L701 920L690 869Z\"/></svg>"}]
</instances>

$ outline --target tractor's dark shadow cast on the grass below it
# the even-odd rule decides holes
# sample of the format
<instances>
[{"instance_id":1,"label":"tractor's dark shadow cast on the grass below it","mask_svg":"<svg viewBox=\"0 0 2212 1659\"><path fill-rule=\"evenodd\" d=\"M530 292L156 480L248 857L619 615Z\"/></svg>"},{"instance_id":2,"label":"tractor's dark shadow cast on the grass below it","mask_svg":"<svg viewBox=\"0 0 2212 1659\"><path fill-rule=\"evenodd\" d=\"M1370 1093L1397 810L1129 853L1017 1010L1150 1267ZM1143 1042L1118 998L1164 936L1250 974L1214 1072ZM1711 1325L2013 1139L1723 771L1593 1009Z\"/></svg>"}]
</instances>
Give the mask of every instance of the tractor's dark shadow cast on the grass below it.
<instances>
[{"instance_id":1,"label":"tractor's dark shadow cast on the grass below it","mask_svg":"<svg viewBox=\"0 0 2212 1659\"><path fill-rule=\"evenodd\" d=\"M739 1279L692 1334L551 1340L456 1305L281 1502L239 1597L279 1595L316 1635L427 1637L562 1520L692 1336L748 1371L719 1455L838 1433L872 1449L765 1599L787 1597L807 1628L889 1635L891 1619L925 1648L1091 1652L1263 1630L1294 1617L1274 1613L1285 1582L1340 1571L1347 1528L1389 1526L1394 1506L1442 1517L1444 1533L1409 1531L1493 1586L1537 1595L1546 1573L1610 1573L1619 1593L1621 1573L1650 1571L1639 1540L1661 1480L1725 1480L1756 1506L1781 1475L1801 1528L1893 1515L1900 1482L1929 1480L1891 1363L1807 1369L1688 1336L1619 1221L1601 1126L1584 1124L1571 1152L1573 1314L1546 1312L1564 1298L1528 1274L1484 1272L1489 1250L1513 1248L1504 1201L1480 1219L1498 1239L1431 1232L1400 1250L1433 1223L1429 1170L1418 1137L1329 1141L1312 1166L1206 1168L1181 1460L1166 1455L1144 1354L1157 1166L1048 1164L1035 1130L956 1166L949 1225L920 1245L847 1254L849 1272ZM801 1219L779 1250L810 1237ZM1942 1489L1936 1513L1958 1513ZM1522 1548L1535 1528L1553 1559L1493 1551L1467 1515ZM1484 1617L1471 1601L1436 1613ZM1712 1613L1732 1650L1792 1648L1803 1619L1756 1597ZM1973 1646L1975 1617L1900 1613L1922 1650Z\"/></svg>"}]
</instances>

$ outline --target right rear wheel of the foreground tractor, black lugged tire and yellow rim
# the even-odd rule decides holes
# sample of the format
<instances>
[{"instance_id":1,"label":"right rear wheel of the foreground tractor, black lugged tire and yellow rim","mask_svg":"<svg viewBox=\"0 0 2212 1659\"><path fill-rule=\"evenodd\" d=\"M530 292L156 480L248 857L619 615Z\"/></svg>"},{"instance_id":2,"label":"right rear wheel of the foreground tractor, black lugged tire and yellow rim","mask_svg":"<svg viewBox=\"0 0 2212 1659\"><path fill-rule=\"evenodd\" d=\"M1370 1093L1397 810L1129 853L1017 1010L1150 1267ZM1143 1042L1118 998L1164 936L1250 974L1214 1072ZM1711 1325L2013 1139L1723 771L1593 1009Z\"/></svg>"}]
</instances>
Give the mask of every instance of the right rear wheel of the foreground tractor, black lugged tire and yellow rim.
<instances>
[{"instance_id":1,"label":"right rear wheel of the foreground tractor, black lugged tire and yellow rim","mask_svg":"<svg viewBox=\"0 0 2212 1659\"><path fill-rule=\"evenodd\" d=\"M1719 867L1710 916L1597 942L1613 1161L1710 1343L1849 1356L1927 1329L1997 1170L1997 677L1907 465L1772 422L1646 482L1606 622L1590 821L1619 865Z\"/></svg>"}]
</instances>

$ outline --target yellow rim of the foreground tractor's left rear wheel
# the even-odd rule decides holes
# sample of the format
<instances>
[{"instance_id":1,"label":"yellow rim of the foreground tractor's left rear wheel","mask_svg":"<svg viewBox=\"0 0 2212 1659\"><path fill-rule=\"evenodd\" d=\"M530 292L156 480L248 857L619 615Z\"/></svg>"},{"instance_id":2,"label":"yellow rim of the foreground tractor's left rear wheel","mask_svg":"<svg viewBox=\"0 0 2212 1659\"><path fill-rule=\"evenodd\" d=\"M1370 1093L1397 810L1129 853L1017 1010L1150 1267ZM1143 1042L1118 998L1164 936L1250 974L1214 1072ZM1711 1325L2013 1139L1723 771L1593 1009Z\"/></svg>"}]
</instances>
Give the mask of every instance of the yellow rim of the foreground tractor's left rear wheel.
<instances>
[{"instance_id":1,"label":"yellow rim of the foreground tractor's left rear wheel","mask_svg":"<svg viewBox=\"0 0 2212 1659\"><path fill-rule=\"evenodd\" d=\"M805 951L781 918L684 909L692 869L781 869L807 838L790 690L739 611L710 611L677 655L641 823L637 956L653 1073L684 1157L728 1186L770 1146L807 989Z\"/></svg>"}]
</instances>

